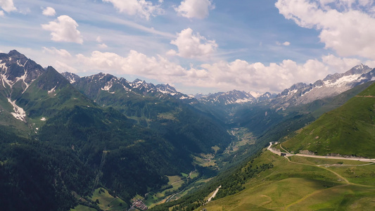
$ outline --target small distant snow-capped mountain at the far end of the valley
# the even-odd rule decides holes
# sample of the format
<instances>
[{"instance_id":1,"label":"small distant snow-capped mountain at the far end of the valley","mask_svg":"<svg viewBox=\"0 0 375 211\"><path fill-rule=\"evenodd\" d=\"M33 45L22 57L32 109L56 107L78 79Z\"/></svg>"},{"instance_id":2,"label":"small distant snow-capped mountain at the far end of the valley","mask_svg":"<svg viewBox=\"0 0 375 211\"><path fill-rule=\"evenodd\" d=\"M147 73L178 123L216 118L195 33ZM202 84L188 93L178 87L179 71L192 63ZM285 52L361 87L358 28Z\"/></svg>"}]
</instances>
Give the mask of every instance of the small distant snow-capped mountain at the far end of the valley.
<instances>
[{"instance_id":1,"label":"small distant snow-capped mountain at the far end of the valley","mask_svg":"<svg viewBox=\"0 0 375 211\"><path fill-rule=\"evenodd\" d=\"M248 103L255 100L251 94L245 91L227 91L227 92L218 92L211 94L209 96L202 96L199 98L201 103L205 104L220 104L220 105L229 105L234 103Z\"/></svg>"}]
</instances>

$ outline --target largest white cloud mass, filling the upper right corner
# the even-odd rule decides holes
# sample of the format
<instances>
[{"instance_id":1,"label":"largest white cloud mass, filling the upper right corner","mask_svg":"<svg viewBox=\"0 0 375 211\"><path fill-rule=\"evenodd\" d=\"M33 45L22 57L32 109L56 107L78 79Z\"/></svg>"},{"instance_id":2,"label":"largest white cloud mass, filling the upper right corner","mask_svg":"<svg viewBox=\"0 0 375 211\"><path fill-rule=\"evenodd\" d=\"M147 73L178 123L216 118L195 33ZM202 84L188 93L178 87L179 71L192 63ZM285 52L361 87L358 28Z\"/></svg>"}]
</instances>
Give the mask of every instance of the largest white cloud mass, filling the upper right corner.
<instances>
[{"instance_id":1,"label":"largest white cloud mass, filling the upper right corner","mask_svg":"<svg viewBox=\"0 0 375 211\"><path fill-rule=\"evenodd\" d=\"M375 25L373 4L366 0L278 0L275 6L300 27L319 30L326 49L373 60L375 27L369 27Z\"/></svg>"}]
</instances>

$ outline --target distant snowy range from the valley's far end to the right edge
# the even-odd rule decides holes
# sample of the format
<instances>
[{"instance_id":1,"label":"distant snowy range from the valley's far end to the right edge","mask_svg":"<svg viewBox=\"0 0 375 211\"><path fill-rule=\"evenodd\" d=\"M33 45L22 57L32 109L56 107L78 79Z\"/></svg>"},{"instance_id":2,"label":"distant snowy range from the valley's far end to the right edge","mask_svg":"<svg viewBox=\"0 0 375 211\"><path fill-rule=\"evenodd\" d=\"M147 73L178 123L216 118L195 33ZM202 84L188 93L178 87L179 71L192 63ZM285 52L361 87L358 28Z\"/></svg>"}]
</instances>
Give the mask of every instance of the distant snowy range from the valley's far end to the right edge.
<instances>
[{"instance_id":1,"label":"distant snowy range from the valley's far end to the right edge","mask_svg":"<svg viewBox=\"0 0 375 211\"><path fill-rule=\"evenodd\" d=\"M297 83L288 89L284 89L279 94L258 94L252 96L246 91L227 91L215 94L197 94L196 98L201 103L216 106L243 103L266 103L277 110L285 110L289 106L311 103L317 99L336 96L359 84L372 81L375 70L367 65L357 65L344 73L327 75L324 79L319 79L314 84Z\"/></svg>"}]
</instances>

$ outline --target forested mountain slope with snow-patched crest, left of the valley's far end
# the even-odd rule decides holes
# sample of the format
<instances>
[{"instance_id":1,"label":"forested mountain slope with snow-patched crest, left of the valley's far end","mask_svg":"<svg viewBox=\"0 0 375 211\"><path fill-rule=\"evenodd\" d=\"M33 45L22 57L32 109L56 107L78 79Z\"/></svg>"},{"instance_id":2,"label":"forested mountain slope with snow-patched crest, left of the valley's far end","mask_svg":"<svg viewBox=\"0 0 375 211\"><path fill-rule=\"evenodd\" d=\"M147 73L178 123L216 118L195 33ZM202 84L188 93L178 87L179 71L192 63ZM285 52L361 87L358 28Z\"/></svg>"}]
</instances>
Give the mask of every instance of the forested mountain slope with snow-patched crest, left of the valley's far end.
<instances>
[{"instance_id":1,"label":"forested mountain slope with snow-patched crest, left of the valley's far end","mask_svg":"<svg viewBox=\"0 0 375 211\"><path fill-rule=\"evenodd\" d=\"M72 84L104 108L113 107L141 126L157 131L177 148L193 153L210 153L211 147L224 151L231 137L210 115L196 110L187 98L167 85L153 85L136 79L99 73ZM177 141L178 140L178 141Z\"/></svg>"}]
</instances>

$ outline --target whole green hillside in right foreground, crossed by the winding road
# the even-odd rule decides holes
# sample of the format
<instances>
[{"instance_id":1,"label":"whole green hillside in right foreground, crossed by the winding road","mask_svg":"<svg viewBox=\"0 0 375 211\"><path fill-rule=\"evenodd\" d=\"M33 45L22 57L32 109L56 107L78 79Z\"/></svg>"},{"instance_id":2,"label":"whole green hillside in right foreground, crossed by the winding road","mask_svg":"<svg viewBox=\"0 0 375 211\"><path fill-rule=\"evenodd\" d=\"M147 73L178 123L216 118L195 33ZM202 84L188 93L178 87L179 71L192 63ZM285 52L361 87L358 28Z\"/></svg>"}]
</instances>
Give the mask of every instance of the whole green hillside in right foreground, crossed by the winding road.
<instances>
[{"instance_id":1,"label":"whole green hillside in right foreground, crossed by the winding road","mask_svg":"<svg viewBox=\"0 0 375 211\"><path fill-rule=\"evenodd\" d=\"M357 93L303 129L268 139L279 141L267 148L274 149L264 148L200 191L151 210L372 210L375 84L363 85L360 93L336 96Z\"/></svg>"}]
</instances>

